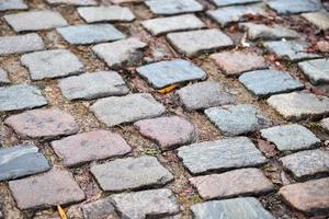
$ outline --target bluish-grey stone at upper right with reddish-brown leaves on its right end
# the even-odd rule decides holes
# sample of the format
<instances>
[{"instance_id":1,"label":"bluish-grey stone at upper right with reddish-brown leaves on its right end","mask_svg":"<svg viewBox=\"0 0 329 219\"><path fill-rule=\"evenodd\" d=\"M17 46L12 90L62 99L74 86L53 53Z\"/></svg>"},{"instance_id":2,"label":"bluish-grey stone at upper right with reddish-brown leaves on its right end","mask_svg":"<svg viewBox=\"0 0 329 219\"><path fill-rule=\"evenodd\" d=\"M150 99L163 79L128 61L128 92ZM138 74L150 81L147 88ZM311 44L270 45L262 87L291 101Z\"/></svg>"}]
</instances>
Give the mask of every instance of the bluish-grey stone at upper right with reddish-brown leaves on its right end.
<instances>
[{"instance_id":1,"label":"bluish-grey stone at upper right with reddish-brown leaves on its right end","mask_svg":"<svg viewBox=\"0 0 329 219\"><path fill-rule=\"evenodd\" d=\"M281 59L287 59L291 61L300 61L304 59L318 58L317 54L305 53L309 46L306 42L302 41L276 41L265 42L264 47L275 54Z\"/></svg>"}]
</instances>

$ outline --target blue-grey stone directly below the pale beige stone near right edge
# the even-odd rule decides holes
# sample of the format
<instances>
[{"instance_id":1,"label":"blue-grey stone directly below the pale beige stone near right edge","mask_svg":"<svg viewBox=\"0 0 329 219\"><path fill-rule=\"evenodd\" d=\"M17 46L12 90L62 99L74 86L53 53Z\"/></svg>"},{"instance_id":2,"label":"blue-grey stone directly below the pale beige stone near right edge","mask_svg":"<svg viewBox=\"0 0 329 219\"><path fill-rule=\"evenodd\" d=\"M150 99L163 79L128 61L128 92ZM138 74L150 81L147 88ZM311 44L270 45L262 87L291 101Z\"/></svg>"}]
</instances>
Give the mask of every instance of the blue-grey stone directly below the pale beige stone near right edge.
<instances>
[{"instance_id":1,"label":"blue-grey stone directly below the pale beige stone near right edge","mask_svg":"<svg viewBox=\"0 0 329 219\"><path fill-rule=\"evenodd\" d=\"M298 124L262 129L261 135L280 151L309 149L321 142L310 130Z\"/></svg>"}]
</instances>

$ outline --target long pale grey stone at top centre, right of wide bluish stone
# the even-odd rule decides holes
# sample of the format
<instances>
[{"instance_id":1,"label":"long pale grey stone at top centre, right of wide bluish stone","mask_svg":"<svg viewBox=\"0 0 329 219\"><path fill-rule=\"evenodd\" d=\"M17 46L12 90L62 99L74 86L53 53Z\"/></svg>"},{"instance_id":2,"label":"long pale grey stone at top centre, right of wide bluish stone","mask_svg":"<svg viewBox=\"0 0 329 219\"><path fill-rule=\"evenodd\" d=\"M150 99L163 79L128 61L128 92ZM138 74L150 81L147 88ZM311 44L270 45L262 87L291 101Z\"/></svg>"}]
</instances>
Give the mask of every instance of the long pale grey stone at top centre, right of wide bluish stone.
<instances>
[{"instance_id":1,"label":"long pale grey stone at top centre, right of wide bluish stone","mask_svg":"<svg viewBox=\"0 0 329 219\"><path fill-rule=\"evenodd\" d=\"M150 19L143 21L141 25L152 35L205 27L205 24L194 14Z\"/></svg>"}]
</instances>

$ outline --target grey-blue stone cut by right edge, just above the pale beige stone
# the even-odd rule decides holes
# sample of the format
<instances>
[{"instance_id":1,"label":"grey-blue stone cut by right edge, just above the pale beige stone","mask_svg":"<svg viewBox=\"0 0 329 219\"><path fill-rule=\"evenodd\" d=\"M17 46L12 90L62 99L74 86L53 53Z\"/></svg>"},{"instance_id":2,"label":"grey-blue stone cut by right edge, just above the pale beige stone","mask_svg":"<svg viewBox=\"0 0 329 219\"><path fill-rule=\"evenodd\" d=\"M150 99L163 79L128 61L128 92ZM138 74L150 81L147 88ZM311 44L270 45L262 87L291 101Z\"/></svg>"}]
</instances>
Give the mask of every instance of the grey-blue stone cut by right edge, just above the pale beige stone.
<instances>
[{"instance_id":1,"label":"grey-blue stone cut by right edge, just above the pale beige stone","mask_svg":"<svg viewBox=\"0 0 329 219\"><path fill-rule=\"evenodd\" d=\"M298 64L313 84L329 83L329 59L315 59Z\"/></svg>"}]
</instances>

